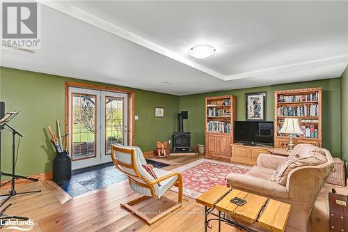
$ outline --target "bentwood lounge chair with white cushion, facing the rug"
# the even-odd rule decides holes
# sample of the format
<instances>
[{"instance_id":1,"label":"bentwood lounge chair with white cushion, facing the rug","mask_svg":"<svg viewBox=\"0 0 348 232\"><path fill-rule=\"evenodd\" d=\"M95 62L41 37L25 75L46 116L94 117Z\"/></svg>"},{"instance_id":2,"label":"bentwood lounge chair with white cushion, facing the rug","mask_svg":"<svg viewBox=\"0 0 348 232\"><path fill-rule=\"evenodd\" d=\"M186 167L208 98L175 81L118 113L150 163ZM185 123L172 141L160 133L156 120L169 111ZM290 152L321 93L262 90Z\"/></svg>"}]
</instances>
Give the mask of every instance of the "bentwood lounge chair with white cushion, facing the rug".
<instances>
[{"instance_id":1,"label":"bentwood lounge chair with white cushion, facing the rug","mask_svg":"<svg viewBox=\"0 0 348 232\"><path fill-rule=\"evenodd\" d=\"M148 225L154 224L182 206L181 173L154 168L152 170L155 172L157 179L153 178L142 167L141 164L146 164L146 160L141 149L136 146L112 145L111 158L115 167L127 175L131 189L143 195L127 203L121 203L121 206L143 219ZM150 197L160 199L173 185L179 188L178 203L159 215L149 218L132 207L134 204Z\"/></svg>"}]
</instances>

